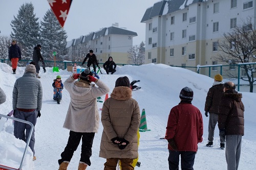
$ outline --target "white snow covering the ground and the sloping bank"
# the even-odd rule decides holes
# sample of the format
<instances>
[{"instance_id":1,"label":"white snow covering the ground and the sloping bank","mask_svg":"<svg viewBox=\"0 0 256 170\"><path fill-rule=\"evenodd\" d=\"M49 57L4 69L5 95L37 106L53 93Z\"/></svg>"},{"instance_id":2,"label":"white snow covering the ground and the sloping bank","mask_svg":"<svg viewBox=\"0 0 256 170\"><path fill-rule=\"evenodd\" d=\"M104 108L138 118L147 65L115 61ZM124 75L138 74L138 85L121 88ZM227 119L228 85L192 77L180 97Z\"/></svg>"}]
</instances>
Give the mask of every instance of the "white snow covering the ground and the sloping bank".
<instances>
[{"instance_id":1,"label":"white snow covering the ground and the sloping bank","mask_svg":"<svg viewBox=\"0 0 256 170\"><path fill-rule=\"evenodd\" d=\"M0 106L1 114L8 114L12 110L12 90L17 78L22 77L25 67L18 67L16 75L12 75L11 67L0 63L0 87L7 94L7 101ZM60 105L53 102L52 82L57 75L65 81L71 72L60 70L52 72L47 67L47 72L40 70L43 88L43 100L41 117L37 119L35 126L35 156L37 160L32 161L32 151L29 149L24 162L23 170L58 169L58 159L66 147L69 130L62 128L66 117L70 96L63 89ZM203 142L198 144L198 152L195 159L195 169L227 169L225 150L220 149L220 138L218 127L215 130L214 148L205 147L208 136L208 117L204 115L204 103L208 89L214 82L213 79L197 74L193 71L170 67L164 64L146 64L141 66L118 66L114 75L99 75L100 80L105 82L113 90L118 77L127 76L130 81L140 80L136 85L142 87L133 91L133 98L137 100L140 111L145 109L147 128L151 131L140 133L139 161L140 167L135 169L168 169L167 141L159 139L164 137L167 118L172 107L176 106L180 99L180 90L187 86L194 90L193 105L203 113L204 134ZM256 154L256 118L255 118L255 93L242 92L242 101L245 105L245 135L242 137L242 153L239 169L254 169ZM104 100L104 96L102 96ZM103 103L98 103L102 108ZM100 114L100 110L99 110ZM26 143L13 136L12 120L2 118L0 124L3 129L0 132L0 164L18 168ZM102 133L100 123L99 132L95 135L92 148L92 165L88 169L103 169L105 159L99 158L99 146ZM81 143L74 153L68 169L77 169L80 159Z\"/></svg>"}]
</instances>

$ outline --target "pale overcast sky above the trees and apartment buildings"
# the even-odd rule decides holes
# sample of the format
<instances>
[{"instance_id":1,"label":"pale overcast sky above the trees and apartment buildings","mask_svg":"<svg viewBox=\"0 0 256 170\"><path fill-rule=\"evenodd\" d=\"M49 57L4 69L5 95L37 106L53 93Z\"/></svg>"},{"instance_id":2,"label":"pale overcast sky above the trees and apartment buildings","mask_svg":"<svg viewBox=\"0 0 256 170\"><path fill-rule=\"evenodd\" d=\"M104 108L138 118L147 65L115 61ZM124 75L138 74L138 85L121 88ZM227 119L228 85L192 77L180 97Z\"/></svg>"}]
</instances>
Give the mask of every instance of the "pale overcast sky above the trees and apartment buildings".
<instances>
[{"instance_id":1,"label":"pale overcast sky above the trees and apartment buildings","mask_svg":"<svg viewBox=\"0 0 256 170\"><path fill-rule=\"evenodd\" d=\"M58 0L59 1L59 0ZM42 20L46 11L50 9L47 0L1 0L0 1L0 35L9 36L13 16L17 16L22 4L32 2L34 13ZM133 45L145 41L145 23L141 19L147 8L159 0L73 0L64 25L68 34L68 41L87 35L104 27L119 23L119 27L134 31L138 34L133 38Z\"/></svg>"}]
</instances>

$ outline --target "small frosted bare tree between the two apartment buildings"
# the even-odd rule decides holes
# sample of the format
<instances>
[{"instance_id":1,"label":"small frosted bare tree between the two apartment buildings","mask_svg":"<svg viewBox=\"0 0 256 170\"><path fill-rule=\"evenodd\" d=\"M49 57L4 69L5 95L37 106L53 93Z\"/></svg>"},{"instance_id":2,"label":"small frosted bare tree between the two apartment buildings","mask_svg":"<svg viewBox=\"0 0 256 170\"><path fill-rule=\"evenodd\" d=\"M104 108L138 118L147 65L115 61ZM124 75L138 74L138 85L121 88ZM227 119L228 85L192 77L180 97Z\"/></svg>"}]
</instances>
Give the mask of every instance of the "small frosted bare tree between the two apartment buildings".
<instances>
[{"instance_id":1,"label":"small frosted bare tree between the two apartment buildings","mask_svg":"<svg viewBox=\"0 0 256 170\"><path fill-rule=\"evenodd\" d=\"M145 61L145 43L142 41L140 45L135 45L132 48L130 48L129 56L128 56L128 63L129 64L137 64L141 65L144 64Z\"/></svg>"}]
</instances>

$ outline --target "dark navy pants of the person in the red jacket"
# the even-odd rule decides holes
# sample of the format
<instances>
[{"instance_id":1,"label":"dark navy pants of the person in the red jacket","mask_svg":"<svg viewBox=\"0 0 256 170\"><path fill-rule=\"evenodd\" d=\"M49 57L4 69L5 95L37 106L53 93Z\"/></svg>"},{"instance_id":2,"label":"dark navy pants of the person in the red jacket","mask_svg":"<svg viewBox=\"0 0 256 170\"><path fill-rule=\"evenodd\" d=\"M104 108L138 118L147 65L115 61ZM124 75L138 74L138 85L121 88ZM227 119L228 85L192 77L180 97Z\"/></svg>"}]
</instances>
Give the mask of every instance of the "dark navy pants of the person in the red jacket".
<instances>
[{"instance_id":1,"label":"dark navy pants of the person in the red jacket","mask_svg":"<svg viewBox=\"0 0 256 170\"><path fill-rule=\"evenodd\" d=\"M196 152L169 150L169 170L179 170L179 157L181 156L181 169L193 170Z\"/></svg>"}]
</instances>

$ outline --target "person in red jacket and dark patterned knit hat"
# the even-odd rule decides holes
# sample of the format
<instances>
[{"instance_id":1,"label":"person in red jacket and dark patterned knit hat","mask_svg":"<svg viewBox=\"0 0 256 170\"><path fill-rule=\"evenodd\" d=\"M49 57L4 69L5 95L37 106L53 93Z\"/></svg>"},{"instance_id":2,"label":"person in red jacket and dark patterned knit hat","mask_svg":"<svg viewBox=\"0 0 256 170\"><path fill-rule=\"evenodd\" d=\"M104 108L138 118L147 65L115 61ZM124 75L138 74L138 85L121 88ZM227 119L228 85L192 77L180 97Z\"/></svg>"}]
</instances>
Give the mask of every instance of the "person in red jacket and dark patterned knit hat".
<instances>
[{"instance_id":1,"label":"person in red jacket and dark patterned knit hat","mask_svg":"<svg viewBox=\"0 0 256 170\"><path fill-rule=\"evenodd\" d=\"M203 141L203 118L200 110L191 104L194 92L184 87L180 92L180 103L170 110L165 139L168 141L169 170L193 169L197 144Z\"/></svg>"}]
</instances>

